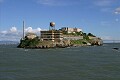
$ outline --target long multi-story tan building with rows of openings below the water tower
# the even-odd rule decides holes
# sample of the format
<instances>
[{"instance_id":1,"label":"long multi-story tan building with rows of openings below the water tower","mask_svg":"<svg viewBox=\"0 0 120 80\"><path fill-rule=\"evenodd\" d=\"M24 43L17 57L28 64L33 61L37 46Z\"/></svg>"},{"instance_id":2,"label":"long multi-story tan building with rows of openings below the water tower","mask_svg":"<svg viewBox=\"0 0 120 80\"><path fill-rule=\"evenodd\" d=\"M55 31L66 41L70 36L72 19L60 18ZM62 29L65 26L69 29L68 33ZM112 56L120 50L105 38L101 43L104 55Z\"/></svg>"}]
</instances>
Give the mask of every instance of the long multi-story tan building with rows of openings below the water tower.
<instances>
[{"instance_id":1,"label":"long multi-story tan building with rows of openings below the water tower","mask_svg":"<svg viewBox=\"0 0 120 80\"><path fill-rule=\"evenodd\" d=\"M61 41L63 39L62 32L59 30L41 31L42 40Z\"/></svg>"}]
</instances>

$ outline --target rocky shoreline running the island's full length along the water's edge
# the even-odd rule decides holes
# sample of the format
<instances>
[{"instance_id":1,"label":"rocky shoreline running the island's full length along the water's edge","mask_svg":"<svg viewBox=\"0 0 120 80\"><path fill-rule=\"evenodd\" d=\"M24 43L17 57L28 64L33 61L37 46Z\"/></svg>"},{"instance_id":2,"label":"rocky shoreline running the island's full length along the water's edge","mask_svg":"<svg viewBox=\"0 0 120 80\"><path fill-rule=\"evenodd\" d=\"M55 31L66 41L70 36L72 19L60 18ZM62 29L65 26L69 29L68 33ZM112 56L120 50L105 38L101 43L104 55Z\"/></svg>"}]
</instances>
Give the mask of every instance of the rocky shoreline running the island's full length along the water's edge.
<instances>
[{"instance_id":1,"label":"rocky shoreline running the island's full length along the water's edge","mask_svg":"<svg viewBox=\"0 0 120 80\"><path fill-rule=\"evenodd\" d=\"M20 44L17 46L18 48L27 48L27 49L48 49L48 48L67 48L67 47L79 47L79 46L101 46L102 40L79 40L81 43L73 43L73 41L63 40L61 42L53 42L53 41L40 41L38 39L25 39L21 40ZM77 42L74 40L74 42Z\"/></svg>"}]
</instances>

